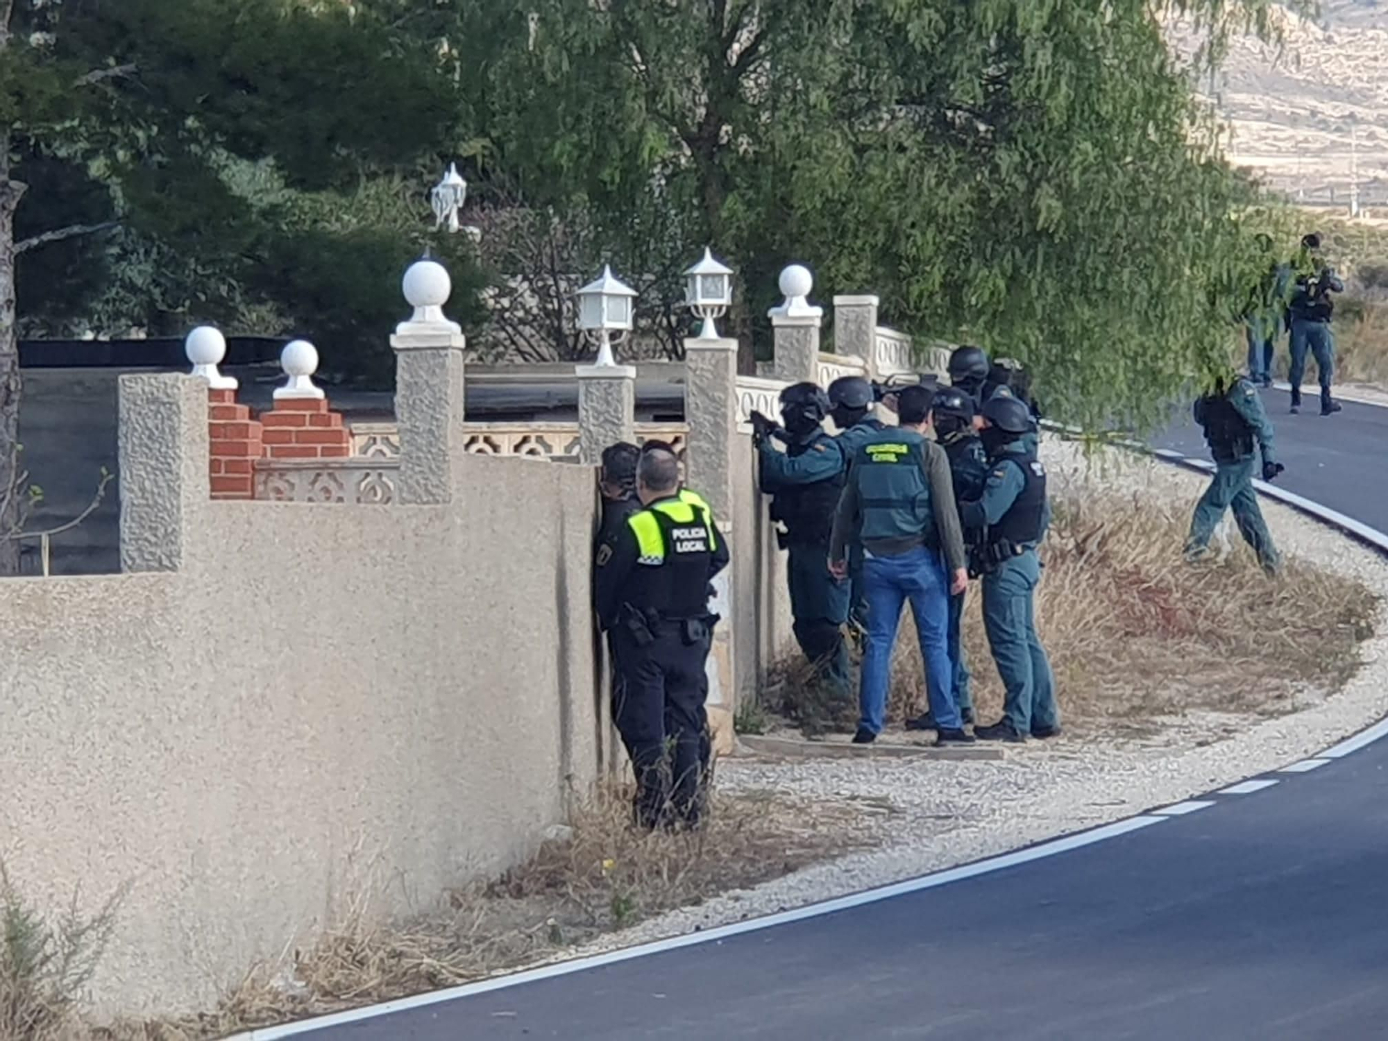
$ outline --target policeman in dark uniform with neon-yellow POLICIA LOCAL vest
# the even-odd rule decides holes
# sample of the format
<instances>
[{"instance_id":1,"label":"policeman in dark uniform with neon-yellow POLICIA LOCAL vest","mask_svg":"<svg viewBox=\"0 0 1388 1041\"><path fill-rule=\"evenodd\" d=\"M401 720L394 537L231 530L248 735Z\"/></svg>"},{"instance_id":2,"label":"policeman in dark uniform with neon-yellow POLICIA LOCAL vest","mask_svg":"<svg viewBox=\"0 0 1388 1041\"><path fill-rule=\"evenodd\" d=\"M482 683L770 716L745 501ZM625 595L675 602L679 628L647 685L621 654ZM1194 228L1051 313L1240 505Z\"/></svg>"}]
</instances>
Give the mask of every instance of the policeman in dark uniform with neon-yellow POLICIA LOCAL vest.
<instances>
[{"instance_id":1,"label":"policeman in dark uniform with neon-yellow POLICIA LOCAL vest","mask_svg":"<svg viewBox=\"0 0 1388 1041\"><path fill-rule=\"evenodd\" d=\"M672 452L641 454L636 491L644 508L627 518L597 573L598 615L616 619L616 725L644 827L697 826L708 770L704 668L718 620L708 590L729 551L712 514L679 484Z\"/></svg>"}]
</instances>

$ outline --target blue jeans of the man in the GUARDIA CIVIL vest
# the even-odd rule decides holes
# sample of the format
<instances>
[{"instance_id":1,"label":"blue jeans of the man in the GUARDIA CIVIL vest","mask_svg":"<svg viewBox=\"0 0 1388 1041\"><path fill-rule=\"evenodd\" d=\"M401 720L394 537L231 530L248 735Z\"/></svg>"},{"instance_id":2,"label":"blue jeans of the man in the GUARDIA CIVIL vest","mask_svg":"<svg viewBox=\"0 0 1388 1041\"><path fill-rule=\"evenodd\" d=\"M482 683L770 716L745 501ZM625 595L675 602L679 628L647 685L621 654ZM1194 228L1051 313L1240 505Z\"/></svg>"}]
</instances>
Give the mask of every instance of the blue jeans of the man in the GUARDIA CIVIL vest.
<instances>
[{"instance_id":1,"label":"blue jeans of the man in the GUARDIA CIVIL vest","mask_svg":"<svg viewBox=\"0 0 1388 1041\"><path fill-rule=\"evenodd\" d=\"M867 598L867 647L863 651L858 726L880 734L886 726L887 682L891 651L897 645L901 608L909 600L916 618L920 658L926 665L930 715L945 730L962 723L954 701L954 665L949 661L949 586L940 554L924 547L899 557L865 554L863 593Z\"/></svg>"}]
</instances>

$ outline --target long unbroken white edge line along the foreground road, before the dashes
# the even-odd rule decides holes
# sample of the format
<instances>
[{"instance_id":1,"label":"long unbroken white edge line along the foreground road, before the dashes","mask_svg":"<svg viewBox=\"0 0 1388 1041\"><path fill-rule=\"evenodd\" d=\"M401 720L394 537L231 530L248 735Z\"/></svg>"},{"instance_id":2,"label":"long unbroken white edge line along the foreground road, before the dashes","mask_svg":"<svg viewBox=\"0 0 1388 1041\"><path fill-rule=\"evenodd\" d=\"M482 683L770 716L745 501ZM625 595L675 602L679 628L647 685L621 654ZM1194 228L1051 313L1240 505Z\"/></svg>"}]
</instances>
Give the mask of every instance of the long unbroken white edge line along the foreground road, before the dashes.
<instances>
[{"instance_id":1,"label":"long unbroken white edge line along the foreground road, before the dashes","mask_svg":"<svg viewBox=\"0 0 1388 1041\"><path fill-rule=\"evenodd\" d=\"M773 926L784 926L791 922L802 922L809 917L820 917L823 915L833 915L837 911L848 911L851 908L861 908L865 904L877 904L879 901L891 899L892 897L901 897L908 892L919 892L922 890L933 890L938 886L948 886L952 881L962 881L965 879L976 879L980 874L991 874L992 872L1001 872L1008 867L1016 867L1017 865L1031 863L1033 861L1041 861L1047 856L1055 856L1056 854L1065 854L1070 849L1081 849L1087 845L1094 845L1095 843L1102 843L1108 838L1117 838L1119 836L1128 834L1130 831L1137 831L1151 824L1159 824L1166 818L1160 816L1135 816L1127 820L1116 820L1112 824L1105 824L1102 827L1090 829L1088 831L1080 831L1078 834L1065 836L1063 838L1053 838L1049 843L1041 843L1040 845L1033 845L1027 849L1017 849L1012 854L1002 854L1001 856L990 856L987 861L979 861L976 863L966 863L959 867L949 867L942 872L933 872L931 874L923 874L919 879L908 879L906 881L898 881L892 886L881 886L876 890L865 890L863 892L855 892L849 897L840 897L838 899L829 899L820 904L811 904L804 908L795 908L794 911L783 911L779 915L768 915L765 917L755 917L748 922L734 922L729 926L719 926L718 929L706 929L702 933L688 933L686 936L670 937L669 940L658 940L654 944L641 944L640 947L627 947L620 951L608 951L607 954L594 955L591 958L577 958L569 962L557 962L554 965L543 965L537 969L530 969L527 972L512 973L511 976L498 976L493 980L482 980L479 983L469 983L464 987L452 987L446 991L433 991L432 994L416 994L412 998L401 998L400 1001L387 1001L382 1005L371 1005L364 1009L351 1009L348 1012L337 1012L332 1016L319 1016L318 1019L305 1019L298 1023L286 1023L278 1027L265 1027L260 1030L251 1030L243 1034L235 1034L226 1038L226 1041L278 1041L282 1037L294 1037L297 1034L307 1034L314 1030L326 1030L328 1027L343 1026L347 1023L358 1023L364 1019L376 1019L378 1016L389 1016L393 1012L404 1012L407 1009L426 1008L429 1005L439 1005L447 1001L457 1001L458 998L466 998L475 994L486 994L489 991L498 991L507 987L518 987L522 983L534 983L537 980L548 980L555 976L569 976L572 973L583 972L586 969L597 969L604 965L615 965L618 962L629 962L633 958L645 958L654 954L662 954L665 951L677 951L683 947L694 947L697 944L711 944L729 937L741 936L744 933L758 933L763 929L772 929Z\"/></svg>"}]
</instances>

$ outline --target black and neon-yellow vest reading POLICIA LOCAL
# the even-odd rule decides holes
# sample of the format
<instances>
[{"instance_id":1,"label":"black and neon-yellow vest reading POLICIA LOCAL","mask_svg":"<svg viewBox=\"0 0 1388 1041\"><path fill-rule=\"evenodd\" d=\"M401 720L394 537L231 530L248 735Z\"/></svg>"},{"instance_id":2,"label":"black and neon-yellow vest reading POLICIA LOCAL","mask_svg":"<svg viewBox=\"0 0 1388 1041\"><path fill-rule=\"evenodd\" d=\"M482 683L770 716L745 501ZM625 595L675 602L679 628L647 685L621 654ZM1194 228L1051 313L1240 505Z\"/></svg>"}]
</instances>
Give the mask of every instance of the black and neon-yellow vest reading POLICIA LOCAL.
<instances>
[{"instance_id":1,"label":"black and neon-yellow vest reading POLICIA LOCAL","mask_svg":"<svg viewBox=\"0 0 1388 1041\"><path fill-rule=\"evenodd\" d=\"M638 554L626 602L661 618L708 615L708 570L718 536L704 500L682 491L633 514L626 523Z\"/></svg>"}]
</instances>

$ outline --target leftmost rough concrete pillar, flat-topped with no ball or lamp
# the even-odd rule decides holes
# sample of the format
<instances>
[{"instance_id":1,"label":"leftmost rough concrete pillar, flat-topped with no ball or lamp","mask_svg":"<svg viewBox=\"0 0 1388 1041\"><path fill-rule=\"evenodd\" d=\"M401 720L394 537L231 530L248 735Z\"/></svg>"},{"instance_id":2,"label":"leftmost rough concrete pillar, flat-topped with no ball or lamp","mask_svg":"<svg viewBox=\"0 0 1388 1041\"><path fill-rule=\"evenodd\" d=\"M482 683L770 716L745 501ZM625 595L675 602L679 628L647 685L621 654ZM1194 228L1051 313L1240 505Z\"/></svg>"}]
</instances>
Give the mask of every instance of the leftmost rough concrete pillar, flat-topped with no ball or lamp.
<instances>
[{"instance_id":1,"label":"leftmost rough concrete pillar, flat-topped with no ball or lamp","mask_svg":"<svg viewBox=\"0 0 1388 1041\"><path fill-rule=\"evenodd\" d=\"M121 570L179 570L211 497L207 380L121 376Z\"/></svg>"}]
</instances>

